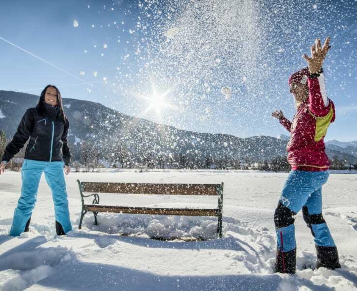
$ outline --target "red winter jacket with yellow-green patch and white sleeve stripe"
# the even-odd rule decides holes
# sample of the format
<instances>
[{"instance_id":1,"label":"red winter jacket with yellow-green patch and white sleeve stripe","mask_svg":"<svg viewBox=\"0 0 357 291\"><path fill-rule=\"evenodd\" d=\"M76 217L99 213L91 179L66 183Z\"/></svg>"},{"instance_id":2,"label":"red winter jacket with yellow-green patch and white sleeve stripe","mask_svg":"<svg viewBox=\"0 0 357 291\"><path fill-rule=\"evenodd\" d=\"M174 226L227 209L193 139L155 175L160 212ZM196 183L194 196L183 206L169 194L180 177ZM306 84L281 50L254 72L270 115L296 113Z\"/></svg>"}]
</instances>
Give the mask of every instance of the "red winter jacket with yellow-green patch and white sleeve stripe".
<instances>
[{"instance_id":1,"label":"red winter jacket with yellow-green patch and white sleeve stripe","mask_svg":"<svg viewBox=\"0 0 357 291\"><path fill-rule=\"evenodd\" d=\"M323 73L308 76L309 98L298 107L292 123L285 117L280 123L291 133L287 145L292 170L324 171L329 168L323 138L335 121L335 105L327 98Z\"/></svg>"}]
</instances>

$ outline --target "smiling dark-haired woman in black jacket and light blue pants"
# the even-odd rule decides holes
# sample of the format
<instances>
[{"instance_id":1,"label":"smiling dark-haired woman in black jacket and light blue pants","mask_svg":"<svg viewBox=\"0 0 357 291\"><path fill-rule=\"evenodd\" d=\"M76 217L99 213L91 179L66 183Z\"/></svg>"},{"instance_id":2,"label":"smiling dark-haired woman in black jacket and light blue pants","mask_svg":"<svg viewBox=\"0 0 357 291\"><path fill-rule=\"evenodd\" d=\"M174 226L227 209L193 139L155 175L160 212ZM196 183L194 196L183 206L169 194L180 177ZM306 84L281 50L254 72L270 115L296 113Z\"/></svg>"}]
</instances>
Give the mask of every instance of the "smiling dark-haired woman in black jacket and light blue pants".
<instances>
[{"instance_id":1,"label":"smiling dark-haired woman in black jacket and light blue pants","mask_svg":"<svg viewBox=\"0 0 357 291\"><path fill-rule=\"evenodd\" d=\"M68 129L69 122L64 114L60 91L53 85L47 85L42 90L37 106L26 110L1 159L0 174L4 172L6 163L30 138L22 164L21 196L14 212L11 236L29 230L42 172L45 173L47 184L52 191L57 235L66 234L72 229L63 174L63 167L66 175L71 170L71 154L67 145Z\"/></svg>"}]
</instances>

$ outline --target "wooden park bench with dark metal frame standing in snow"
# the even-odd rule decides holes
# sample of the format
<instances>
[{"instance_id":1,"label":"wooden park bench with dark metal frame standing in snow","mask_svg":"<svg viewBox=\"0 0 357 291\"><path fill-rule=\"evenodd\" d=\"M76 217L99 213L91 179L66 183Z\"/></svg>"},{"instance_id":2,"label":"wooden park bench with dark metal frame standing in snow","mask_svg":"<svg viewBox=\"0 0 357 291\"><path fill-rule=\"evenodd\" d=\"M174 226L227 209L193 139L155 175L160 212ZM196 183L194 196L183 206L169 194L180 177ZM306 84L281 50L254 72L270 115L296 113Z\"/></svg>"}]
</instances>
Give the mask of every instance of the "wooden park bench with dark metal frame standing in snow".
<instances>
[{"instance_id":1,"label":"wooden park bench with dark metal frame standing in snow","mask_svg":"<svg viewBox=\"0 0 357 291\"><path fill-rule=\"evenodd\" d=\"M218 217L217 233L222 237L222 184L148 184L148 183L100 183L80 182L79 192L82 199L82 214L79 229L82 227L83 217L87 212L93 212L94 224L97 225L98 212L151 214L151 215L187 215L187 216L216 216ZM217 208L158 208L158 207L128 207L99 205L99 193L113 194L156 194L156 195L202 195L218 196ZM84 198L94 196L92 204L85 204Z\"/></svg>"}]
</instances>

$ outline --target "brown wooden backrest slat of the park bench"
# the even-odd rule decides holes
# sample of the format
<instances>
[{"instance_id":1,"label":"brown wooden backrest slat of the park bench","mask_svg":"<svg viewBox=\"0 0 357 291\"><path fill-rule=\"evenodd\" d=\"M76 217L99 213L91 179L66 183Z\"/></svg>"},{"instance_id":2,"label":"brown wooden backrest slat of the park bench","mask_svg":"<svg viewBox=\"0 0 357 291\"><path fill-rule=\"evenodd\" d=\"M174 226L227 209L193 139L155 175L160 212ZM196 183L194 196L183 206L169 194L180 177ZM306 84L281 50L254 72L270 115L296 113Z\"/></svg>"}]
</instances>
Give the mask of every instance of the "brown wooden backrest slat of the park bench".
<instances>
[{"instance_id":1,"label":"brown wooden backrest slat of the park bench","mask_svg":"<svg viewBox=\"0 0 357 291\"><path fill-rule=\"evenodd\" d=\"M164 194L217 196L218 184L148 184L81 182L82 191L89 193Z\"/></svg>"}]
</instances>

